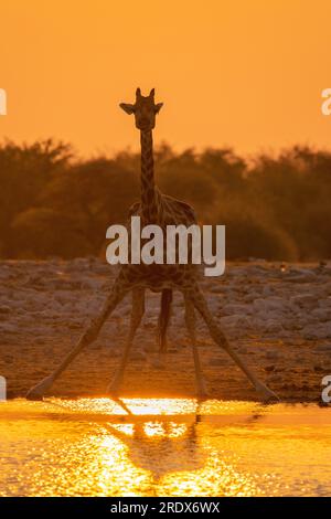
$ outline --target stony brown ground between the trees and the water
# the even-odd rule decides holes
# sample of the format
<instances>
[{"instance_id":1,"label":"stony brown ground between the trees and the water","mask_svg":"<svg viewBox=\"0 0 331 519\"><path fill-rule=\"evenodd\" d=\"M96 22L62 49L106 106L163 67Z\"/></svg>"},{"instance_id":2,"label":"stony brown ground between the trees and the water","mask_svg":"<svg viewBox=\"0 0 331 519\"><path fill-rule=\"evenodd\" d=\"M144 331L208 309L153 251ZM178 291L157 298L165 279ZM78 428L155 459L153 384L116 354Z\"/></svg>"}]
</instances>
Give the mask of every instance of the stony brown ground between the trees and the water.
<instances>
[{"instance_id":1,"label":"stony brown ground between the trees and the water","mask_svg":"<svg viewBox=\"0 0 331 519\"><path fill-rule=\"evenodd\" d=\"M114 269L98 260L0 263L0 374L9 396L55 368L107 296ZM233 346L282 400L320 401L331 374L331 265L264 262L227 264L220 278L203 278L210 308ZM158 294L148 294L121 394L194 395L194 373L183 303L175 295L166 369L157 363ZM63 396L105 393L128 330L130 298L99 338L52 389ZM199 347L210 395L256 399L242 372L199 319Z\"/></svg>"}]
</instances>

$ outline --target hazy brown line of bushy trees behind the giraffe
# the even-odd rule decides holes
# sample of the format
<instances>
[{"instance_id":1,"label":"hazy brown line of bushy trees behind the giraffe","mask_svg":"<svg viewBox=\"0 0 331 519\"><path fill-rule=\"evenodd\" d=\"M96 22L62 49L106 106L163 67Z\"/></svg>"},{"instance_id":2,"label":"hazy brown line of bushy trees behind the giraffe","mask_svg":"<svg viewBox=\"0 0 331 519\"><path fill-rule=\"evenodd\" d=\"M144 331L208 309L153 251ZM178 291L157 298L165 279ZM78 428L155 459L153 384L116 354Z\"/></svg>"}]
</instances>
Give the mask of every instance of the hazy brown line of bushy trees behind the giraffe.
<instances>
[{"instance_id":1,"label":"hazy brown line of bushy trees behind the giraffe","mask_svg":"<svg viewBox=\"0 0 331 519\"><path fill-rule=\"evenodd\" d=\"M226 257L331 257L331 152L293 147L249 163L231 149L156 151L162 192L226 225ZM0 257L103 255L139 199L139 155L89 160L53 140L0 146Z\"/></svg>"}]
</instances>

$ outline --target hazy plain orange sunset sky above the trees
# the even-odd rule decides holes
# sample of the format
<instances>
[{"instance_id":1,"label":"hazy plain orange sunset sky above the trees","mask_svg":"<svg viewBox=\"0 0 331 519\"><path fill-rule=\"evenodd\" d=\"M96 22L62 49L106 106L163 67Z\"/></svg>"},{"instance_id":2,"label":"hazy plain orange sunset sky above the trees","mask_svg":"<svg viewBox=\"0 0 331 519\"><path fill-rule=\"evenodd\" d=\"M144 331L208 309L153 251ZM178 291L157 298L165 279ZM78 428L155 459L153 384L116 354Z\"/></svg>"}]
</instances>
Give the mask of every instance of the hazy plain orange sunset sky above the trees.
<instances>
[{"instance_id":1,"label":"hazy plain orange sunset sky above the trees","mask_svg":"<svg viewBox=\"0 0 331 519\"><path fill-rule=\"evenodd\" d=\"M138 145L119 102L156 87L156 140L329 146L330 0L1 0L1 136L82 155Z\"/></svg>"}]
</instances>

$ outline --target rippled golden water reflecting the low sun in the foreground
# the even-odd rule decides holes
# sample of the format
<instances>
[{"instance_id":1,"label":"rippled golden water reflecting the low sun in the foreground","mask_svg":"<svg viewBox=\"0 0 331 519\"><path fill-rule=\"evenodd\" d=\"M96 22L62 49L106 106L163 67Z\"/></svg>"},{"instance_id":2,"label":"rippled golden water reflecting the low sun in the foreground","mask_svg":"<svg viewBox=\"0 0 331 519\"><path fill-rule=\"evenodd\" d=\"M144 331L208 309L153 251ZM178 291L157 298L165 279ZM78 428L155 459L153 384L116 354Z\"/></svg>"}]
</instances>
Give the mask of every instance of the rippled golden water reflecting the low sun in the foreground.
<instances>
[{"instance_id":1,"label":"rippled golden water reflecting the low sun in the foreground","mask_svg":"<svg viewBox=\"0 0 331 519\"><path fill-rule=\"evenodd\" d=\"M0 438L0 496L331 494L331 413L314 405L15 400Z\"/></svg>"}]
</instances>

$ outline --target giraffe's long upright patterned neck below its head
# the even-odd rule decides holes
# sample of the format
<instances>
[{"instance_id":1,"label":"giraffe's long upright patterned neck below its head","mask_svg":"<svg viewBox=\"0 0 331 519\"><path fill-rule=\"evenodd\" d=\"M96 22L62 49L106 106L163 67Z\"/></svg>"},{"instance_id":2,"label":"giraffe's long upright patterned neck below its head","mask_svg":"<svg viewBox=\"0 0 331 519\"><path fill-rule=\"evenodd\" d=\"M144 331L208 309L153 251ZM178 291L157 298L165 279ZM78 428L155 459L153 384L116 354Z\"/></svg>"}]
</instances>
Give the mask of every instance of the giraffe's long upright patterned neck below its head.
<instances>
[{"instance_id":1,"label":"giraffe's long upright patterned neck below its head","mask_svg":"<svg viewBox=\"0 0 331 519\"><path fill-rule=\"evenodd\" d=\"M143 224L157 223L159 208L154 182L152 133L140 131L141 144L141 218Z\"/></svg>"}]
</instances>

